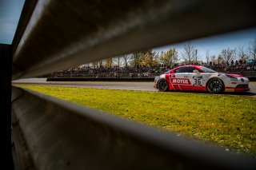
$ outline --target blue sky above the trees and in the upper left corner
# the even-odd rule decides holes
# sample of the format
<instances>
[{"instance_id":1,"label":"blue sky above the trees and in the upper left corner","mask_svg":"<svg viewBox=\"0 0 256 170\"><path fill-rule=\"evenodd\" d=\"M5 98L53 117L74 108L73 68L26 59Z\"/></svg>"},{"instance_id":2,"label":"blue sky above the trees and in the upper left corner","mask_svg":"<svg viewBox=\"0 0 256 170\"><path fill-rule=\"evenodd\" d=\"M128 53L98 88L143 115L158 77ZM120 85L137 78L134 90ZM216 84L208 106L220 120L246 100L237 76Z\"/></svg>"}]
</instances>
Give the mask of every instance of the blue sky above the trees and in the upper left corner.
<instances>
[{"instance_id":1,"label":"blue sky above the trees and in the upper left corner","mask_svg":"<svg viewBox=\"0 0 256 170\"><path fill-rule=\"evenodd\" d=\"M25 0L0 0L0 43L12 43L24 1ZM239 46L244 46L246 49L253 38L256 38L256 28L210 38L197 39L190 41L190 43L198 49L198 54L202 61L205 61L207 50L209 51L210 56L217 56L222 52L222 49L226 48L234 49ZM180 55L185 43L186 42L175 45L166 45L153 50L161 52L170 49L170 47L175 47L178 50L178 55Z\"/></svg>"}]
</instances>

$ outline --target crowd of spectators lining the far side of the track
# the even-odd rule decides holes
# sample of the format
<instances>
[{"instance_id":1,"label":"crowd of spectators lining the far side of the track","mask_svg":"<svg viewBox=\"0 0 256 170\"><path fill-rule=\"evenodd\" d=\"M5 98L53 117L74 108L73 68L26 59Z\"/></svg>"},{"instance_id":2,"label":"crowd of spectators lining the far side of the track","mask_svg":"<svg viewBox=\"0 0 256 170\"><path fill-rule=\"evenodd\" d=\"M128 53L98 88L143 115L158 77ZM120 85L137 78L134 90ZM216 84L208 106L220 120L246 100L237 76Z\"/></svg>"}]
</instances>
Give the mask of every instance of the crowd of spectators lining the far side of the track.
<instances>
[{"instance_id":1,"label":"crowd of spectators lining the far side of the track","mask_svg":"<svg viewBox=\"0 0 256 170\"><path fill-rule=\"evenodd\" d=\"M210 69L214 69L218 72L232 72L232 71L256 71L256 61L230 61L230 63L214 63L206 62L202 63L191 63L194 65L202 65ZM154 77L161 73L173 69L174 67L180 66L182 64L174 64L173 67L167 67L166 65L158 65L156 67L104 67L104 66L88 66L84 65L74 69L59 70L58 72L51 73L47 77ZM184 65L184 64L183 64Z\"/></svg>"}]
</instances>

